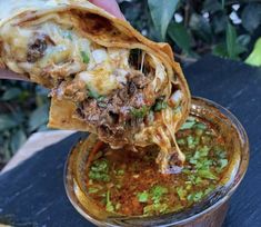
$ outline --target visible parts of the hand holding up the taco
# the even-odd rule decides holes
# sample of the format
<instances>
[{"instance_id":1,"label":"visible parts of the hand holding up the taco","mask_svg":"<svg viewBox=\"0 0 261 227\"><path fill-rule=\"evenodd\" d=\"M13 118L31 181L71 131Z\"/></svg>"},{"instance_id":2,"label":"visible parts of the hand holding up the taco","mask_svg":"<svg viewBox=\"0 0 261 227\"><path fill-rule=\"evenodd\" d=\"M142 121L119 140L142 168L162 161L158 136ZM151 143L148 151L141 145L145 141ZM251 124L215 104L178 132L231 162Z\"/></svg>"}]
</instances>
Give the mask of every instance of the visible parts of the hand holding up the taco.
<instances>
[{"instance_id":1,"label":"visible parts of the hand holding up the taco","mask_svg":"<svg viewBox=\"0 0 261 227\"><path fill-rule=\"evenodd\" d=\"M124 17L121 13L116 0L90 0L90 2L96 4L97 7L104 9L117 18L124 20ZM8 69L0 69L0 79L28 80L24 76L18 75Z\"/></svg>"}]
</instances>

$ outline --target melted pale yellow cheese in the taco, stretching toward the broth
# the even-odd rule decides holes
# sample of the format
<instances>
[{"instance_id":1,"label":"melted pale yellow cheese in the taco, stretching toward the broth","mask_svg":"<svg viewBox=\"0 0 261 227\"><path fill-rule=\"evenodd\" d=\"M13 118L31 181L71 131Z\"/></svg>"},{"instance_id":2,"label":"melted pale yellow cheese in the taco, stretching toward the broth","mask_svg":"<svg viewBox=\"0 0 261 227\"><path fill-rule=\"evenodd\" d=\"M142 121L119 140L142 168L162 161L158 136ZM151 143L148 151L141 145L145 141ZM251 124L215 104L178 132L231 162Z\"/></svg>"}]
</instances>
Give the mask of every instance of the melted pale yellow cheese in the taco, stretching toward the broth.
<instances>
[{"instance_id":1,"label":"melted pale yellow cheese in the taco, stretching toward the broth","mask_svg":"<svg viewBox=\"0 0 261 227\"><path fill-rule=\"evenodd\" d=\"M89 89L101 96L108 96L126 85L127 75L131 70L130 50L106 48L93 43L72 29L71 20L73 18L70 14L62 18L58 14L48 14L32 21L31 27L6 23L0 28L0 40L3 42L4 51L3 61L11 70L19 73L28 72L33 79L42 73L54 79L67 79L68 76L74 75L76 79L84 81ZM43 33L50 40L43 57L36 62L28 62L28 47L36 33ZM83 59L83 53L88 56L88 60ZM144 51L142 51L141 60L140 71L143 70L145 61L154 69L151 90L159 92L167 85L160 95L168 97L171 92L171 85L163 63ZM177 103L181 98L182 93L175 92L171 101ZM180 111L167 108L161 111L160 118L154 120L153 126L143 127L139 134L134 135L134 141L139 145L145 146L152 141L161 147L157 160L161 164L162 172L170 170L169 159L173 154L178 154L178 159L184 161L184 155L180 151L174 136L175 122L180 118Z\"/></svg>"}]
</instances>

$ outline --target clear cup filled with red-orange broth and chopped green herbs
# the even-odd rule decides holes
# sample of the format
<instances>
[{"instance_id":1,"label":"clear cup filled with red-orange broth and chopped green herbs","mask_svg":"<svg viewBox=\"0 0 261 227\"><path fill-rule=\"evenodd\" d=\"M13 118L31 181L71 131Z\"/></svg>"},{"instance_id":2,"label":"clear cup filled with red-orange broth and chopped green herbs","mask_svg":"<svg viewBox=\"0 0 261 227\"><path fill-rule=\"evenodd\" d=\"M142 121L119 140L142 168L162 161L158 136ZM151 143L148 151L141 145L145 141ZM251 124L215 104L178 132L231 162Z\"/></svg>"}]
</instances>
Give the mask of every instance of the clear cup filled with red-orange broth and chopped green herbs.
<instances>
[{"instance_id":1,"label":"clear cup filled with red-orange broth and chopped green herbs","mask_svg":"<svg viewBox=\"0 0 261 227\"><path fill-rule=\"evenodd\" d=\"M68 198L98 226L220 227L247 171L247 134L228 110L193 98L177 140L184 168L162 175L157 147L111 150L94 135L82 135L64 168Z\"/></svg>"}]
</instances>

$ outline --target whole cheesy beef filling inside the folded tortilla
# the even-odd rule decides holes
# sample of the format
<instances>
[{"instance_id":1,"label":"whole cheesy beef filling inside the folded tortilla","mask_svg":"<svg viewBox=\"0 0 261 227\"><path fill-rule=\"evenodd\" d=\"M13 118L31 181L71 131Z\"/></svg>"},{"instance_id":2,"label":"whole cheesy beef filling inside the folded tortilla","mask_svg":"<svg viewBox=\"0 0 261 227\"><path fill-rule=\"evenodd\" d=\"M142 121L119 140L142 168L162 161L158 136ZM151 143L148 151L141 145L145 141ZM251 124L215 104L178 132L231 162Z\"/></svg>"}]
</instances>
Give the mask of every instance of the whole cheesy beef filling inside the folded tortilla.
<instances>
[{"instance_id":1,"label":"whole cheesy beef filling inside the folded tortilla","mask_svg":"<svg viewBox=\"0 0 261 227\"><path fill-rule=\"evenodd\" d=\"M102 34L99 41L93 30L109 21L82 17L62 11L41 17L29 13L6 22L0 28L1 61L50 88L52 99L72 102L72 118L101 140L114 148L157 144L162 149L157 159L161 170L177 171L184 156L174 132L188 105L177 76L142 46L108 45ZM118 36L111 26L103 29Z\"/></svg>"}]
</instances>

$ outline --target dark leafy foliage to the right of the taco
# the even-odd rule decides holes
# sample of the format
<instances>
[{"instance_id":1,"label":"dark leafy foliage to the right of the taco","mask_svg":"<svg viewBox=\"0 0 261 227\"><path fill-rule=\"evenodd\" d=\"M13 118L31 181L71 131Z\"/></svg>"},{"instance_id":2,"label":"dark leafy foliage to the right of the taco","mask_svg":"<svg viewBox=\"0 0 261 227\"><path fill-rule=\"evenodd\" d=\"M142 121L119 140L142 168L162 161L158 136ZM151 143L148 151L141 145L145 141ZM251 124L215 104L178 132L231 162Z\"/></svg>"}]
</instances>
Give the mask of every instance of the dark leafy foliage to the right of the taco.
<instances>
[{"instance_id":1,"label":"dark leafy foliage to the right of the taco","mask_svg":"<svg viewBox=\"0 0 261 227\"><path fill-rule=\"evenodd\" d=\"M121 0L120 7L144 36L174 47L182 63L205 53L244 60L261 37L260 0Z\"/></svg>"}]
</instances>

